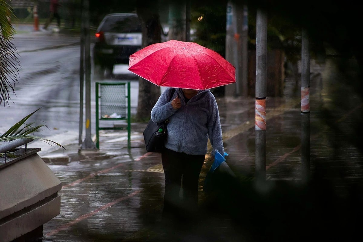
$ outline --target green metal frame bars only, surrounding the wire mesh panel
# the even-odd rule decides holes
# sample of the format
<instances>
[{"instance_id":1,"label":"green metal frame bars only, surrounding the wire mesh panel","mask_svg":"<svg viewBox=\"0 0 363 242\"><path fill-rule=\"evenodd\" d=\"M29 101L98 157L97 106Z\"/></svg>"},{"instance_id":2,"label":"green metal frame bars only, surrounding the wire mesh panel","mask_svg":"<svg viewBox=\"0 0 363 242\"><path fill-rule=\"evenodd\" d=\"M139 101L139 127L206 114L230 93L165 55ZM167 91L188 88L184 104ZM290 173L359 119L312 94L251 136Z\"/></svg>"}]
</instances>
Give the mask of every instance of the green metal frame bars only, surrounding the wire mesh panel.
<instances>
[{"instance_id":1,"label":"green metal frame bars only, surrounding the wire mesh panel","mask_svg":"<svg viewBox=\"0 0 363 242\"><path fill-rule=\"evenodd\" d=\"M100 103L102 97L100 94L101 86L120 86L127 85L127 93L125 91L125 99L127 98L127 117L126 118L102 118L100 117ZM131 148L131 99L130 99L130 82L96 82L96 147L99 149L99 131L100 130L124 130L125 127L99 127L99 120L127 120L127 148Z\"/></svg>"}]
</instances>

